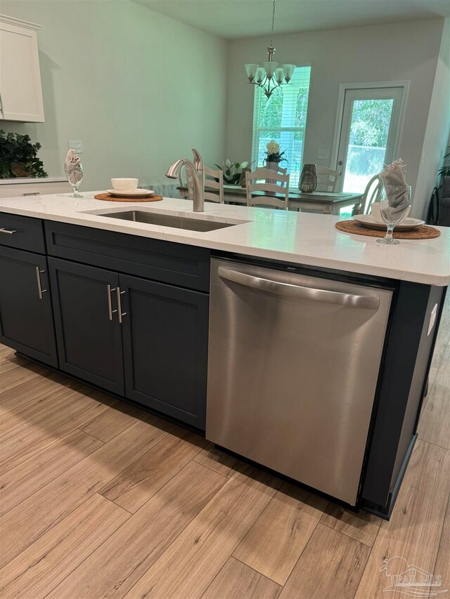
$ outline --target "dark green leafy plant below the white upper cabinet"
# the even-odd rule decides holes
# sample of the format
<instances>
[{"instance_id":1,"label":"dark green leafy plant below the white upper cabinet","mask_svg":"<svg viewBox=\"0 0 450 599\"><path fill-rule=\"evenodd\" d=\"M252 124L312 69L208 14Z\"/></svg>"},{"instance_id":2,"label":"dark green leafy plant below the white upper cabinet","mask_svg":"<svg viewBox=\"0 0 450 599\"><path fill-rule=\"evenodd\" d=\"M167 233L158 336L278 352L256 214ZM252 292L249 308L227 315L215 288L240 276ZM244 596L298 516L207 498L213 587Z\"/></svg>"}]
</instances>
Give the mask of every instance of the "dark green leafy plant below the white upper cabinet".
<instances>
[{"instance_id":1,"label":"dark green leafy plant below the white upper cabinet","mask_svg":"<svg viewBox=\"0 0 450 599\"><path fill-rule=\"evenodd\" d=\"M41 144L32 143L30 136L0 129L0 178L47 177L37 157L40 149Z\"/></svg>"}]
</instances>

